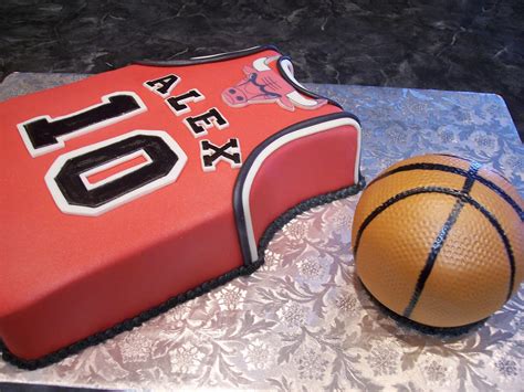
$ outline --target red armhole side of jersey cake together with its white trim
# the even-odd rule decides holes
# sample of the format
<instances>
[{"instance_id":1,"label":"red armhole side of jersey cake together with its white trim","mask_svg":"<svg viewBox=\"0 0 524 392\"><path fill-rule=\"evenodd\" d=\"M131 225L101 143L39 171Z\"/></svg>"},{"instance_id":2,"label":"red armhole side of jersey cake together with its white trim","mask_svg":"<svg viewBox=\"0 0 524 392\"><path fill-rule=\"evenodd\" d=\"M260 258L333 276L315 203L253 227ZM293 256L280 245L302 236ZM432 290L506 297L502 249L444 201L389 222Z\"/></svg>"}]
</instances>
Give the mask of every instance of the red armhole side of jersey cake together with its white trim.
<instances>
[{"instance_id":1,"label":"red armhole side of jersey cake together with its white trim","mask_svg":"<svg viewBox=\"0 0 524 392\"><path fill-rule=\"evenodd\" d=\"M361 187L360 133L352 114L338 112L287 127L253 150L234 187L245 264L263 257L259 242L277 216L313 197L335 200L343 189Z\"/></svg>"}]
</instances>

